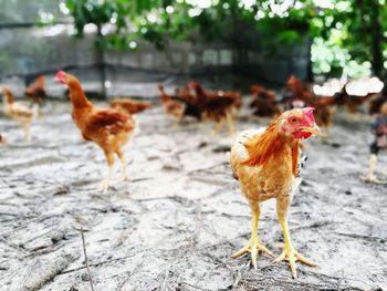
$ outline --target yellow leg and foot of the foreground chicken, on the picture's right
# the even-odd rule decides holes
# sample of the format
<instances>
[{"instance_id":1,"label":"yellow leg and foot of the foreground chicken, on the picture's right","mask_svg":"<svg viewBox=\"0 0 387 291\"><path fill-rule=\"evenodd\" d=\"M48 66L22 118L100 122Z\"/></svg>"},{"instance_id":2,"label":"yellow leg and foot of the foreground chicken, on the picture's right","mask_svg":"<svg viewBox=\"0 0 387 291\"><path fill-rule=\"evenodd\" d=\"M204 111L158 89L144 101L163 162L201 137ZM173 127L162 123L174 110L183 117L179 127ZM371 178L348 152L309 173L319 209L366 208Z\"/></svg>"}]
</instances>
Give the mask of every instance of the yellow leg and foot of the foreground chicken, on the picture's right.
<instances>
[{"instance_id":1,"label":"yellow leg and foot of the foreground chicken, on the picture's right","mask_svg":"<svg viewBox=\"0 0 387 291\"><path fill-rule=\"evenodd\" d=\"M283 232L283 239L285 241L285 247L279 258L274 260L274 262L280 262L283 260L287 260L293 278L297 278L297 270L295 268L295 261L299 260L307 266L316 266L316 263L311 262L310 260L305 259L303 256L301 256L297 251L294 250L289 228L287 228L287 210L290 206L290 196L280 196L276 198L276 215L279 217L279 221L281 224L282 232Z\"/></svg>"}]
</instances>

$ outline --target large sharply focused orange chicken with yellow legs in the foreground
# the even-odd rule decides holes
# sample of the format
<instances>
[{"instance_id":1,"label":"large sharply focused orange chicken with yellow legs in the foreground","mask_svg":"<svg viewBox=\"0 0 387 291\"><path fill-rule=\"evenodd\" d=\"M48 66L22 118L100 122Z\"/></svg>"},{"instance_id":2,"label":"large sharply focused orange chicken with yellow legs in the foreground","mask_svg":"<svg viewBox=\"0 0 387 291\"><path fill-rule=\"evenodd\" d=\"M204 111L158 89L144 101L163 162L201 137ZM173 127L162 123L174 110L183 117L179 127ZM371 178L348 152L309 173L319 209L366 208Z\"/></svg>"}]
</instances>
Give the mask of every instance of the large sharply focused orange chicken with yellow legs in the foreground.
<instances>
[{"instance_id":1,"label":"large sharply focused orange chicken with yellow legs in the foreground","mask_svg":"<svg viewBox=\"0 0 387 291\"><path fill-rule=\"evenodd\" d=\"M287 211L292 194L301 183L300 139L318 134L320 128L315 124L313 108L305 107L286 111L266 128L245 131L238 136L231 147L230 165L252 210L252 232L248 246L233 253L232 258L250 252L251 262L257 269L259 250L272 256L259 240L257 229L260 204L275 198L285 245L275 262L289 260L294 278L296 278L296 260L315 266L294 250L287 228Z\"/></svg>"}]
</instances>

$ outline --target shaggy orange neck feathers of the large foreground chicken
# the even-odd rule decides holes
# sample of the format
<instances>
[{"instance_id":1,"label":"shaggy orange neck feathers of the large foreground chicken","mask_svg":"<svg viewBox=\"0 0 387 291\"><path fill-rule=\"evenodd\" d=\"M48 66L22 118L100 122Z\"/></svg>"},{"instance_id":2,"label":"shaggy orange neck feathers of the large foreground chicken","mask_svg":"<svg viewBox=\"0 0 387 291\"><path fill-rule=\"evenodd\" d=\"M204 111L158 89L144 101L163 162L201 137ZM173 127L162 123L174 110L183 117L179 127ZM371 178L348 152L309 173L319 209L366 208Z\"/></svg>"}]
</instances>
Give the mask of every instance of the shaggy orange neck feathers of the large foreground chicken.
<instances>
[{"instance_id":1,"label":"shaggy orange neck feathers of the large foreground chicken","mask_svg":"<svg viewBox=\"0 0 387 291\"><path fill-rule=\"evenodd\" d=\"M295 176L299 162L299 139L286 135L280 129L280 119L271 123L264 133L244 143L249 157L245 166L264 166L275 156L282 157L291 149L292 173Z\"/></svg>"}]
</instances>

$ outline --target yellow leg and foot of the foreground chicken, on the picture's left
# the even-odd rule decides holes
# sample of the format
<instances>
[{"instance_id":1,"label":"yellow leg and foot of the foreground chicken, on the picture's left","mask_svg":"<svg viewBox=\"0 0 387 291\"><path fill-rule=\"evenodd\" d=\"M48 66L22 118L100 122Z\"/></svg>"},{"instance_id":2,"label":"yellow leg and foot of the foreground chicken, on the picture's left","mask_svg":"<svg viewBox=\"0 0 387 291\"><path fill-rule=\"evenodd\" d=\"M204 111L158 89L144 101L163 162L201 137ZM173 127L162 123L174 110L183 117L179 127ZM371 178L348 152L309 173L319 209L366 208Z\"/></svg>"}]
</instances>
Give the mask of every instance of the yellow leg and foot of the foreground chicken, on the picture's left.
<instances>
[{"instance_id":1,"label":"yellow leg and foot of the foreground chicken, on the picture's left","mask_svg":"<svg viewBox=\"0 0 387 291\"><path fill-rule=\"evenodd\" d=\"M257 269L257 257L258 257L258 251L263 251L270 254L271 257L274 257L273 253L266 249L263 245L261 245L257 230L258 230L258 222L260 219L260 207L259 205L253 205L251 207L252 209L252 217L251 217L251 222L252 222L252 229L251 229L251 238L244 248L240 249L239 251L234 252L231 254L231 258L238 258L247 252L251 252L251 263Z\"/></svg>"}]
</instances>

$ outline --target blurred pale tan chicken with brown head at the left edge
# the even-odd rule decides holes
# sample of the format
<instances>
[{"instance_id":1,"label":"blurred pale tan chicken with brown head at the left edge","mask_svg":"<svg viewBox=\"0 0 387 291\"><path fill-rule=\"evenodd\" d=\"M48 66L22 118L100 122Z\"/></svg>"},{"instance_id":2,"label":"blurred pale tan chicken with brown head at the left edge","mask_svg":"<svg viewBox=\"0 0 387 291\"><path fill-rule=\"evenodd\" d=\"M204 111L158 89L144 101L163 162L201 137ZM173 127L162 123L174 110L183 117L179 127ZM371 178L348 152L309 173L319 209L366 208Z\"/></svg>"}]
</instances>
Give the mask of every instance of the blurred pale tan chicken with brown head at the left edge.
<instances>
[{"instance_id":1,"label":"blurred pale tan chicken with brown head at the left edge","mask_svg":"<svg viewBox=\"0 0 387 291\"><path fill-rule=\"evenodd\" d=\"M12 92L6 87L2 87L2 95L4 114L15 119L24 131L24 139L31 141L31 123L39 115L39 105L29 107L21 102L14 102Z\"/></svg>"}]
</instances>

